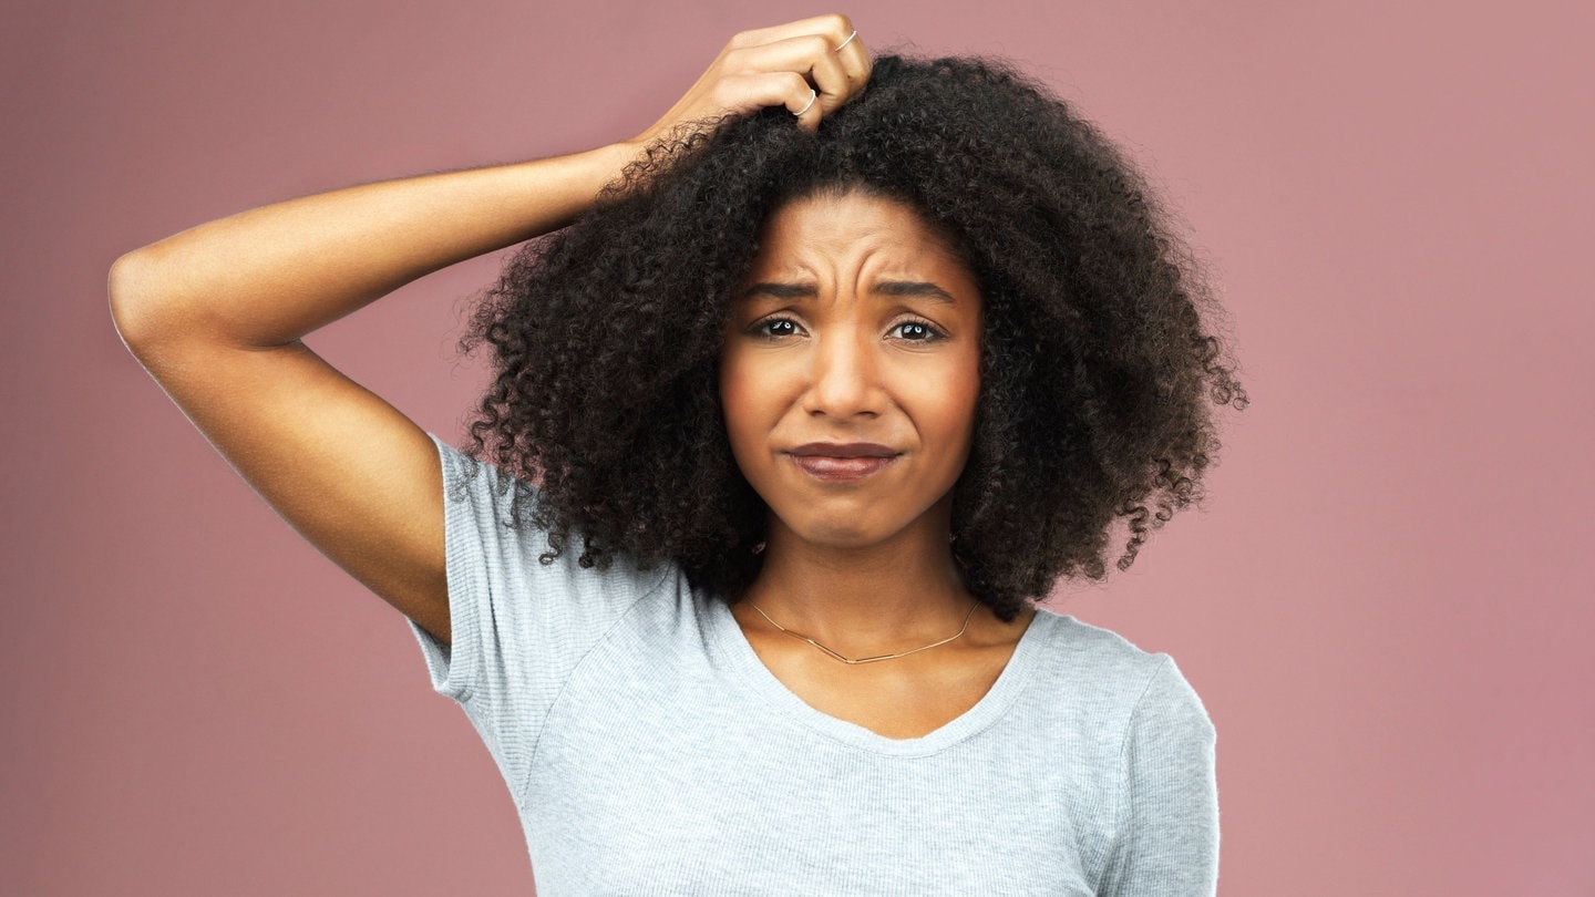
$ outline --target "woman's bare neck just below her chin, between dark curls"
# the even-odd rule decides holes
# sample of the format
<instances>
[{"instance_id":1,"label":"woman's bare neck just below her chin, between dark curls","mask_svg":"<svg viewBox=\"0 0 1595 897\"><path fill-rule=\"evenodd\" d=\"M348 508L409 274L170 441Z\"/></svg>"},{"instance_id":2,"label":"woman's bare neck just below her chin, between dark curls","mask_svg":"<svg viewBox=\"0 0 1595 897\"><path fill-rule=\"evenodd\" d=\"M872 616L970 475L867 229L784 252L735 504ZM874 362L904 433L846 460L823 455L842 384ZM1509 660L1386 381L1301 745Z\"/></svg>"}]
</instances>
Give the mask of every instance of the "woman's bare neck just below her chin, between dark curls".
<instances>
[{"instance_id":1,"label":"woman's bare neck just below her chin, between dark curls","mask_svg":"<svg viewBox=\"0 0 1595 897\"><path fill-rule=\"evenodd\" d=\"M772 520L764 554L746 599L786 629L849 656L946 638L975 602L936 516L868 547L807 543Z\"/></svg>"}]
</instances>

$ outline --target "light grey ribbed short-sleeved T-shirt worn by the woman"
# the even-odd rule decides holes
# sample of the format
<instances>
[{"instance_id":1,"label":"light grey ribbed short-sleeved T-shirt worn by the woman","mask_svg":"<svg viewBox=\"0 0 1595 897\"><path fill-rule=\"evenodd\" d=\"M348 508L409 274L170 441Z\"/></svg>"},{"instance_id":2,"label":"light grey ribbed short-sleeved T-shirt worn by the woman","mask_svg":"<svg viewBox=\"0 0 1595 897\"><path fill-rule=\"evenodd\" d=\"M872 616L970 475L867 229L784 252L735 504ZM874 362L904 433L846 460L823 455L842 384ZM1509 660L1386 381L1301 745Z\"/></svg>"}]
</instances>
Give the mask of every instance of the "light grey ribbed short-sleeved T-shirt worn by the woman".
<instances>
[{"instance_id":1,"label":"light grey ribbed short-sleeved T-shirt worn by the woman","mask_svg":"<svg viewBox=\"0 0 1595 897\"><path fill-rule=\"evenodd\" d=\"M453 648L415 632L541 897L1215 892L1214 728L1168 654L1042 608L975 707L888 739L804 704L679 570L539 563L504 474L439 453Z\"/></svg>"}]
</instances>

